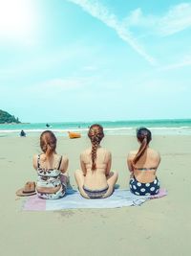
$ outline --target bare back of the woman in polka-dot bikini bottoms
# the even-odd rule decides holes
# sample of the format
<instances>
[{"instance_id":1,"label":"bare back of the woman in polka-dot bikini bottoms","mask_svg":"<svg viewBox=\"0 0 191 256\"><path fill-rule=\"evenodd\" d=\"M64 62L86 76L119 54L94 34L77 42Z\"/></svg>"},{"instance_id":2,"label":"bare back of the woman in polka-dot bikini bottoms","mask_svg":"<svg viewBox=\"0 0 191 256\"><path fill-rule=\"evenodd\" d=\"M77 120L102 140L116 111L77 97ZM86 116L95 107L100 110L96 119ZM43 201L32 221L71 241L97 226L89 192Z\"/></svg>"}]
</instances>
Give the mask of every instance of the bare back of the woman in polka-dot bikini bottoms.
<instances>
[{"instance_id":1,"label":"bare back of the woman in polka-dot bikini bottoms","mask_svg":"<svg viewBox=\"0 0 191 256\"><path fill-rule=\"evenodd\" d=\"M153 182L156 178L156 172L159 167L160 156L158 151L147 148L141 155L140 159L133 164L138 151L130 151L127 164L130 172L133 172L136 179L141 183Z\"/></svg>"}]
</instances>

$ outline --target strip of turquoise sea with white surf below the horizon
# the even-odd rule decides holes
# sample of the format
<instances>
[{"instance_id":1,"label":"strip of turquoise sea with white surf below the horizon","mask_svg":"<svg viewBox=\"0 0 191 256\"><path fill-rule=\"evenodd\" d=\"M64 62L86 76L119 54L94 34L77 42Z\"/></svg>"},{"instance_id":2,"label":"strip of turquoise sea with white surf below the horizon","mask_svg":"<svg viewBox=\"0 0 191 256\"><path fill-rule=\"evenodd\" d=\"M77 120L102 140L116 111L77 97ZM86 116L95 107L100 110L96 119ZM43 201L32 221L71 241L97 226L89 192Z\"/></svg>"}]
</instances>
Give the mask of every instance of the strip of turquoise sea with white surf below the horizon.
<instances>
[{"instance_id":1,"label":"strip of turquoise sea with white surf below the horizon","mask_svg":"<svg viewBox=\"0 0 191 256\"><path fill-rule=\"evenodd\" d=\"M4 124L0 125L0 137L19 136L22 129L27 136L39 136L46 129L52 130L56 136L68 136L68 131L80 132L85 136L93 124L101 125L107 135L134 135L140 127L149 128L153 134L159 135L191 135L191 119L165 119Z\"/></svg>"}]
</instances>

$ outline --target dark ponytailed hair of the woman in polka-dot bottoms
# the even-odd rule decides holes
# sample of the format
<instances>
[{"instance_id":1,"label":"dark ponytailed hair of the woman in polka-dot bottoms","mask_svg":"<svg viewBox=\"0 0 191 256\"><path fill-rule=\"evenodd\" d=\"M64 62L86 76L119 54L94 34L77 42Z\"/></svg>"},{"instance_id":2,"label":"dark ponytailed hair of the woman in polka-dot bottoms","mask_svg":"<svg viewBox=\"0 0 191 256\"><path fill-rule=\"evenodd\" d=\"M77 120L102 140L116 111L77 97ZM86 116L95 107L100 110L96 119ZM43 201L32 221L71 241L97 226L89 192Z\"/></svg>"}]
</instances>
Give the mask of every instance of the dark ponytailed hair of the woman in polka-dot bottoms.
<instances>
[{"instance_id":1,"label":"dark ponytailed hair of the woman in polka-dot bottoms","mask_svg":"<svg viewBox=\"0 0 191 256\"><path fill-rule=\"evenodd\" d=\"M138 128L137 129L137 138L140 143L138 153L136 154L133 163L136 164L144 151L146 150L149 142L152 140L151 131L148 128Z\"/></svg>"}]
</instances>

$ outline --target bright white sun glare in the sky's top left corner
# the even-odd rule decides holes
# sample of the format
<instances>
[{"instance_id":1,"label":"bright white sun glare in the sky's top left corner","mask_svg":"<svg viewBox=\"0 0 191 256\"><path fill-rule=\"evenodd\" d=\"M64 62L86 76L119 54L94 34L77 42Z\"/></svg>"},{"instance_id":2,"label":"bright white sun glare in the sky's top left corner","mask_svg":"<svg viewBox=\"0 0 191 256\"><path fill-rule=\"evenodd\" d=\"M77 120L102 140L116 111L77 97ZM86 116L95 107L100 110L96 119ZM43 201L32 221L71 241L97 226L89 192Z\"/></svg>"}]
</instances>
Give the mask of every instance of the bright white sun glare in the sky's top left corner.
<instances>
[{"instance_id":1,"label":"bright white sun glare in the sky's top left corner","mask_svg":"<svg viewBox=\"0 0 191 256\"><path fill-rule=\"evenodd\" d=\"M1 39L32 37L36 24L33 3L31 0L0 0Z\"/></svg>"}]
</instances>

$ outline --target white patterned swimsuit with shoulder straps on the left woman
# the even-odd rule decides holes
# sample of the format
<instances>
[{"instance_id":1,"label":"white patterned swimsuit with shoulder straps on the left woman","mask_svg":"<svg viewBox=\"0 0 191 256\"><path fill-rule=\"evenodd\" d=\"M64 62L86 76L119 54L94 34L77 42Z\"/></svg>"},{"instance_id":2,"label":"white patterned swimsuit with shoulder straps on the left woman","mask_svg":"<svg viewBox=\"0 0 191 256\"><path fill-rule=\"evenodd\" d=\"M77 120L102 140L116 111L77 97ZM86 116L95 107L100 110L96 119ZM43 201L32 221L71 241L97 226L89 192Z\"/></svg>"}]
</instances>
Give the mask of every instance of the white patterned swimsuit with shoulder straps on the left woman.
<instances>
[{"instance_id":1,"label":"white patterned swimsuit with shoulder straps on the left woman","mask_svg":"<svg viewBox=\"0 0 191 256\"><path fill-rule=\"evenodd\" d=\"M55 169L42 169L40 168L40 155L37 158L37 187L42 188L56 188L60 186L60 189L55 193L38 192L37 196L43 199L57 199L63 198L66 193L66 185L61 182L61 171L59 170L62 162L62 156L60 157L58 167Z\"/></svg>"}]
</instances>

